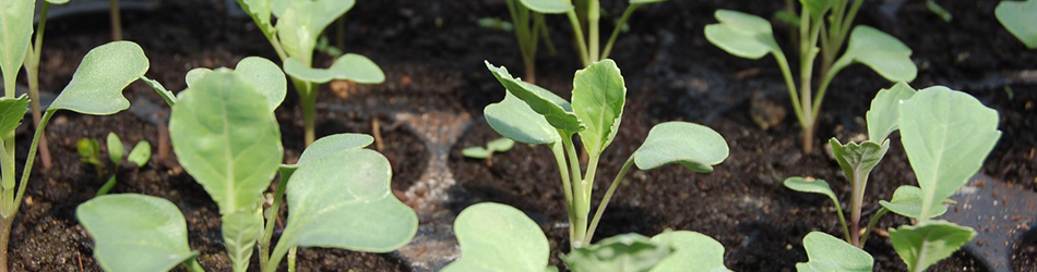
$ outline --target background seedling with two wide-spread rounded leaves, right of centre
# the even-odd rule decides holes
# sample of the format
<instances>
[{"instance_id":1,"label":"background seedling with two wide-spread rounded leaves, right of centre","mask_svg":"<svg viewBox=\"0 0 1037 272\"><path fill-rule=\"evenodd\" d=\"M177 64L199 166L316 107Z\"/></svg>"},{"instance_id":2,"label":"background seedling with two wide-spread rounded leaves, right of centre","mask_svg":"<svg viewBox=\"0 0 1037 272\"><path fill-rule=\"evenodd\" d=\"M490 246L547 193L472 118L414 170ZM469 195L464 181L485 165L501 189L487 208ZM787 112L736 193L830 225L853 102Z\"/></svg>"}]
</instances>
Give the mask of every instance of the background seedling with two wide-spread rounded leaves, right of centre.
<instances>
[{"instance_id":1,"label":"background seedling with two wide-spread rounded leaves, right of centre","mask_svg":"<svg viewBox=\"0 0 1037 272\"><path fill-rule=\"evenodd\" d=\"M737 11L718 10L719 23L705 27L706 39L724 51L747 59L760 59L773 54L782 70L792 111L802 129L803 153L813 152L814 128L821 113L821 102L832 78L855 62L865 64L891 82L915 79L918 67L910 60L911 50L889 34L869 26L850 25L865 1L849 0L800 0L799 15L799 92L792 79L785 53L774 39L771 23L766 20ZM827 16L826 16L827 14ZM824 18L829 21L825 22ZM849 35L849 46L838 57ZM820 48L818 47L820 44ZM814 61L821 54L821 83L818 92L811 84Z\"/></svg>"}]
</instances>

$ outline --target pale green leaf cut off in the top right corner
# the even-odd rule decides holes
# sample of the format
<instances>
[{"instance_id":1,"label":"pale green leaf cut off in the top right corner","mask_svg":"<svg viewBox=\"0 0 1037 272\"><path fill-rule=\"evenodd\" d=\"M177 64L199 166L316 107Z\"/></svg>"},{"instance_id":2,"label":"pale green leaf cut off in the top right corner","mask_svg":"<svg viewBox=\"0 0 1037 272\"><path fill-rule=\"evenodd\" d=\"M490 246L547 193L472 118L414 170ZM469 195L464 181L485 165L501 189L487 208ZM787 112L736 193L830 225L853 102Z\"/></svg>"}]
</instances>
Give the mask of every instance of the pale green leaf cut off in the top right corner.
<instances>
[{"instance_id":1,"label":"pale green leaf cut off in the top right corner","mask_svg":"<svg viewBox=\"0 0 1037 272\"><path fill-rule=\"evenodd\" d=\"M1001 1L993 14L1009 33L1029 49L1037 49L1037 0Z\"/></svg>"}]
</instances>

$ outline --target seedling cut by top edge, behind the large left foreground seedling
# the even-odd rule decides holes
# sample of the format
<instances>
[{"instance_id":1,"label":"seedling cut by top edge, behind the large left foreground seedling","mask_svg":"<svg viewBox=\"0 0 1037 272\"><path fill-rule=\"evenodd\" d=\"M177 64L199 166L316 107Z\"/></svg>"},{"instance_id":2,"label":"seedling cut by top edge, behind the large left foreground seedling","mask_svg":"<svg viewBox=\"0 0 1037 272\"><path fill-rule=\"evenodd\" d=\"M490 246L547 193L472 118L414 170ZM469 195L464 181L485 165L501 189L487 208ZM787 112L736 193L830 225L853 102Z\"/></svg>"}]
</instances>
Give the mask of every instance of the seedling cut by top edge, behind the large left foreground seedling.
<instances>
[{"instance_id":1,"label":"seedling cut by top edge, behind the large left foreground seedling","mask_svg":"<svg viewBox=\"0 0 1037 272\"><path fill-rule=\"evenodd\" d=\"M274 47L285 73L299 92L306 145L315 139L317 90L320 84L346 79L380 84L385 75L367 57L346 53L327 69L313 67L318 37L335 18L353 9L355 0L237 0ZM274 24L271 15L277 16Z\"/></svg>"}]
</instances>

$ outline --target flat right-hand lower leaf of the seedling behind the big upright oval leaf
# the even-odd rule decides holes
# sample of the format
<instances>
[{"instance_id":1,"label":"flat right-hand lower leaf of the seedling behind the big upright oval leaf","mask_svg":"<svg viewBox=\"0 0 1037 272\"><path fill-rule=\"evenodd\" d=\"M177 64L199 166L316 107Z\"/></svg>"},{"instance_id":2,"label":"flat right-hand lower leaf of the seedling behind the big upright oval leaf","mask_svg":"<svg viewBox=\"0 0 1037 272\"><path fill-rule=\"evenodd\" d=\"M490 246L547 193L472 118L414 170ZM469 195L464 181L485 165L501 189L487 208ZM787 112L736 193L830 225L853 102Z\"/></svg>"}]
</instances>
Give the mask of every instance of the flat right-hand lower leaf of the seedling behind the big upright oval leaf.
<instances>
[{"instance_id":1,"label":"flat right-hand lower leaf of the seedling behind the big upright oval leaf","mask_svg":"<svg viewBox=\"0 0 1037 272\"><path fill-rule=\"evenodd\" d=\"M296 59L285 61L285 73L291 77L311 83L327 83L332 79L351 81L361 84L385 82L385 74L367 57L347 53L335 60L327 69L307 67Z\"/></svg>"}]
</instances>

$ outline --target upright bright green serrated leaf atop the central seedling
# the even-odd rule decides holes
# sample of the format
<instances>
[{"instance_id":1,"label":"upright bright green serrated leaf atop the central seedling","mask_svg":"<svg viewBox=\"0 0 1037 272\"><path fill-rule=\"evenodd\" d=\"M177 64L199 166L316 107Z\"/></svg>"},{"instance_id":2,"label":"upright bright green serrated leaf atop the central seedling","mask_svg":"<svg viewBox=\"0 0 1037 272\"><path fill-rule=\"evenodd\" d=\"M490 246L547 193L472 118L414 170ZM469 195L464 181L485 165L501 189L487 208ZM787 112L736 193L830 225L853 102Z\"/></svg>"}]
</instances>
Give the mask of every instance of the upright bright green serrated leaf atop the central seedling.
<instances>
[{"instance_id":1,"label":"upright bright green serrated leaf atop the central seedling","mask_svg":"<svg viewBox=\"0 0 1037 272\"><path fill-rule=\"evenodd\" d=\"M603 60L576 71L573 77L572 110L586 125L580 140L592 156L598 156L619 131L627 103L627 85L619 66Z\"/></svg>"}]
</instances>

